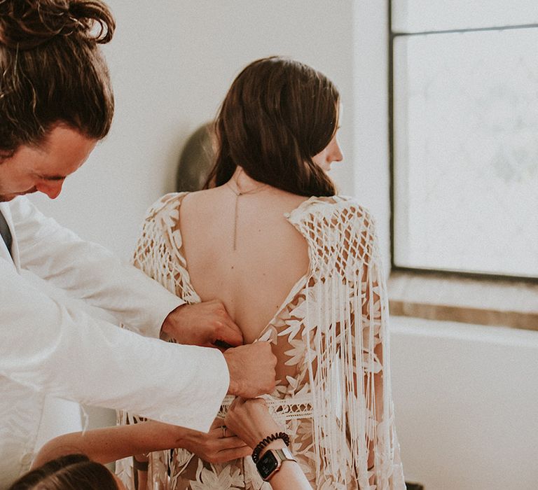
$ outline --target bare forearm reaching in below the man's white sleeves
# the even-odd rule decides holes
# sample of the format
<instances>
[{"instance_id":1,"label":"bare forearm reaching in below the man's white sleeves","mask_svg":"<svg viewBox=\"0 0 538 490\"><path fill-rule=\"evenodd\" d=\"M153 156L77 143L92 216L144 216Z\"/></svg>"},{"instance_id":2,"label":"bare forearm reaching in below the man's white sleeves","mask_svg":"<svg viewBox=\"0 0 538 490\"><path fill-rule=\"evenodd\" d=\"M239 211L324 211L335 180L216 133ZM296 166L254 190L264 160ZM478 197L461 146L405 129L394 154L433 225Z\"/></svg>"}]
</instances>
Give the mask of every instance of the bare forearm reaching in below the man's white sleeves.
<instances>
[{"instance_id":1,"label":"bare forearm reaching in below the man's white sleeves","mask_svg":"<svg viewBox=\"0 0 538 490\"><path fill-rule=\"evenodd\" d=\"M187 431L166 423L146 421L60 435L40 449L32 466L37 468L54 458L74 453L85 454L98 463L111 463L133 454L179 447Z\"/></svg>"}]
</instances>

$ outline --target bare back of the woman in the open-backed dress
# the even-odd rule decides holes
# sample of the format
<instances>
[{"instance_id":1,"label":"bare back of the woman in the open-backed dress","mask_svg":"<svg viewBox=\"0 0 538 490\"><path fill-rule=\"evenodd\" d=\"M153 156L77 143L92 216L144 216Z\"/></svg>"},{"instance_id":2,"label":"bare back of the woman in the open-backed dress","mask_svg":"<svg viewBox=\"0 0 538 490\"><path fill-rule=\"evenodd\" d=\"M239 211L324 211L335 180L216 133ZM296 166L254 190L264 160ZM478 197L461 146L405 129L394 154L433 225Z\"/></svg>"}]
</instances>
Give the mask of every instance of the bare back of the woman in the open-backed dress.
<instances>
[{"instance_id":1,"label":"bare back of the woman in the open-backed dress","mask_svg":"<svg viewBox=\"0 0 538 490\"><path fill-rule=\"evenodd\" d=\"M244 174L240 182L247 193L238 197L233 182L186 195L179 223L193 288L202 301L221 300L249 343L308 272L305 239L284 217L306 198Z\"/></svg>"}]
</instances>

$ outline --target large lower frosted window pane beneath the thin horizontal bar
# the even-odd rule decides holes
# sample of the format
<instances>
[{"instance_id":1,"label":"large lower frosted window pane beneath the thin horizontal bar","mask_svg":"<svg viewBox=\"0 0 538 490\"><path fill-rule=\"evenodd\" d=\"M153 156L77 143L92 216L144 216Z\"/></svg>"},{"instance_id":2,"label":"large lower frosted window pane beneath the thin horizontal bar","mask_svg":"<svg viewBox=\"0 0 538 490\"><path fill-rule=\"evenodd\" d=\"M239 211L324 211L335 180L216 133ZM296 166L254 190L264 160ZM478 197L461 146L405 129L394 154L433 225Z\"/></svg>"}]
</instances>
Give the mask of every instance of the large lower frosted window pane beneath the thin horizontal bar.
<instances>
[{"instance_id":1,"label":"large lower frosted window pane beneath the thin horizontal bar","mask_svg":"<svg viewBox=\"0 0 538 490\"><path fill-rule=\"evenodd\" d=\"M538 277L538 29L394 44L394 262Z\"/></svg>"}]
</instances>

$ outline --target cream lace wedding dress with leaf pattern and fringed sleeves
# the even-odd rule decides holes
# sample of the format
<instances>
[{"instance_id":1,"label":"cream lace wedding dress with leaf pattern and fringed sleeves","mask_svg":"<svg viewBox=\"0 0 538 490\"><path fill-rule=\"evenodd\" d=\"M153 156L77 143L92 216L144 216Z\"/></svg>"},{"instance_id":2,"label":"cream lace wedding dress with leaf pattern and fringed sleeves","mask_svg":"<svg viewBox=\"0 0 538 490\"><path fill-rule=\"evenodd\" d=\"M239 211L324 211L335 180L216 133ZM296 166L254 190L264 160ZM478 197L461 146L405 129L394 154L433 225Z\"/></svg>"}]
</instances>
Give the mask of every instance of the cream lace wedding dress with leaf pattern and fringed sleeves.
<instances>
[{"instance_id":1,"label":"cream lace wedding dress with leaf pattern and fringed sleeves","mask_svg":"<svg viewBox=\"0 0 538 490\"><path fill-rule=\"evenodd\" d=\"M200 302L179 230L185 195L165 195L149 210L133 262L186 302ZM274 344L283 373L268 405L313 488L405 489L372 218L347 197L311 197L285 218L307 241L310 267L258 337ZM120 423L136 419L120 414ZM130 459L117 468L132 489ZM250 457L212 464L186 449L150 455L151 490L270 488Z\"/></svg>"}]
</instances>

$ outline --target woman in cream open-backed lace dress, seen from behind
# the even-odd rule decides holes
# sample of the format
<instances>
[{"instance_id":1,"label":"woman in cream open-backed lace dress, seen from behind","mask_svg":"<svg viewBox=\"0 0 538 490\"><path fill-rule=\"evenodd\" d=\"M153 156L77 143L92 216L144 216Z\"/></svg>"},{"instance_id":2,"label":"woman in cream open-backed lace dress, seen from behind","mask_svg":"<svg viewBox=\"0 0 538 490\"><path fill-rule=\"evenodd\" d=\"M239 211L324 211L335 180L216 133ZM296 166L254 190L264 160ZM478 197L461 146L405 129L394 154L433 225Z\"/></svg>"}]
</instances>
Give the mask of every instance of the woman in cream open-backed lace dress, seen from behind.
<instances>
[{"instance_id":1,"label":"woman in cream open-backed lace dress, seen from behind","mask_svg":"<svg viewBox=\"0 0 538 490\"><path fill-rule=\"evenodd\" d=\"M315 489L404 489L375 225L326 174L343 158L339 110L336 87L310 66L249 64L216 119L206 189L153 204L134 263L187 302L221 300L245 343L273 344L268 405ZM148 479L270 489L250 456L210 463L184 447L151 454Z\"/></svg>"}]
</instances>

